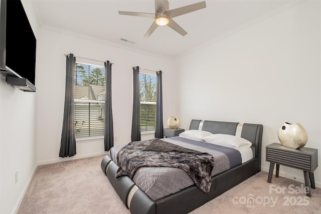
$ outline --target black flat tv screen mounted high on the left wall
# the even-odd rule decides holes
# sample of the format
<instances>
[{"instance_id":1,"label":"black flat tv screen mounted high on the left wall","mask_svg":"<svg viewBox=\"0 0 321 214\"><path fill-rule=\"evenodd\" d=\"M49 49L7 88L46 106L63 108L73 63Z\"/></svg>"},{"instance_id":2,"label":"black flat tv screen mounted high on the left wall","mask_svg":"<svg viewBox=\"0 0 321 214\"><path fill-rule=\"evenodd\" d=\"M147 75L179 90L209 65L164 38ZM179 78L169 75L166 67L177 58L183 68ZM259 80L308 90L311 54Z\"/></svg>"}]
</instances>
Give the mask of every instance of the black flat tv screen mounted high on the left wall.
<instances>
[{"instance_id":1,"label":"black flat tv screen mounted high on the left wall","mask_svg":"<svg viewBox=\"0 0 321 214\"><path fill-rule=\"evenodd\" d=\"M2 42L0 63L10 68L20 77L28 79L35 85L36 72L36 37L20 0L1 0L1 37ZM3 8L5 5L5 8ZM5 11L6 9L6 11ZM4 14L3 14L4 13ZM5 16L6 14L6 16ZM5 19L4 19L5 18ZM5 22L4 22L5 21ZM4 56L3 56L4 55ZM3 67L4 65L0 65Z\"/></svg>"}]
</instances>

